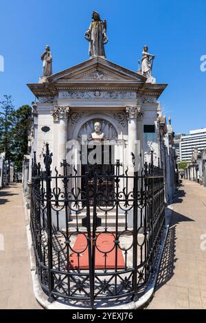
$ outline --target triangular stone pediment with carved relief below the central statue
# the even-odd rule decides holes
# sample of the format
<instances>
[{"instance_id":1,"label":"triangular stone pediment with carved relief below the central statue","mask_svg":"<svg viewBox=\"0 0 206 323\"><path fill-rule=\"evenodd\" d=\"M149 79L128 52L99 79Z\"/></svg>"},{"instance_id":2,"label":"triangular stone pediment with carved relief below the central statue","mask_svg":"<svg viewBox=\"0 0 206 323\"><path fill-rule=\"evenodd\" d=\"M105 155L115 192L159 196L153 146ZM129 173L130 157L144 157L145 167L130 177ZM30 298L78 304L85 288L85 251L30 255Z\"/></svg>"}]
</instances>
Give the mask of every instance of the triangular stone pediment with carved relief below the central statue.
<instances>
[{"instance_id":1,"label":"triangular stone pediment with carved relief below the central statue","mask_svg":"<svg viewBox=\"0 0 206 323\"><path fill-rule=\"evenodd\" d=\"M48 78L49 82L67 82L67 80L85 80L90 82L92 80L133 80L135 82L146 82L144 76L100 57L86 60L69 69L53 74Z\"/></svg>"}]
</instances>

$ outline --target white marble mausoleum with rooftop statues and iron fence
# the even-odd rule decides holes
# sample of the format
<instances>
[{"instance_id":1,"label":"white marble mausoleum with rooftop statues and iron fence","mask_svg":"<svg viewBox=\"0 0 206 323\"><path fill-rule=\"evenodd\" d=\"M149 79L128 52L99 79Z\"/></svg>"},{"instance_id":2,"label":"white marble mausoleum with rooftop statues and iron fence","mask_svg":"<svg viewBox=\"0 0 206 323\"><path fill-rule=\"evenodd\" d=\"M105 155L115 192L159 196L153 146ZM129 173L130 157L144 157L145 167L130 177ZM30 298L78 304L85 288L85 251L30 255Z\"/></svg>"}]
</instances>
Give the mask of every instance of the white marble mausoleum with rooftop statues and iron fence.
<instances>
[{"instance_id":1,"label":"white marble mausoleum with rooftop statues and iron fence","mask_svg":"<svg viewBox=\"0 0 206 323\"><path fill-rule=\"evenodd\" d=\"M106 59L98 12L84 36L89 60L53 74L47 45L43 77L28 84L36 293L46 308L137 309L152 297L174 194L174 133L159 102L167 85L152 76L147 45L137 72Z\"/></svg>"}]
</instances>

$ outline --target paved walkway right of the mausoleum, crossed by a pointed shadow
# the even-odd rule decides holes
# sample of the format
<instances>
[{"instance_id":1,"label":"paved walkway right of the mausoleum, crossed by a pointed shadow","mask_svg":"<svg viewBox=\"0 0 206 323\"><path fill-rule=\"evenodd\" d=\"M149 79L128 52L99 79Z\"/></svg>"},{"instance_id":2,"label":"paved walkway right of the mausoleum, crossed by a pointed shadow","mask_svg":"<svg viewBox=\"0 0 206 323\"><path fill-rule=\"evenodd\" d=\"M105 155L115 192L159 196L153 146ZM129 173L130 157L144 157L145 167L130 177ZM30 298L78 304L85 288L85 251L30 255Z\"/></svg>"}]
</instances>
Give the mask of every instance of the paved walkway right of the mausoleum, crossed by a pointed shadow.
<instances>
[{"instance_id":1,"label":"paved walkway right of the mausoleum, crossed by a pointed shadow","mask_svg":"<svg viewBox=\"0 0 206 323\"><path fill-rule=\"evenodd\" d=\"M147 308L206 309L206 188L183 181L174 203L155 297Z\"/></svg>"}]
</instances>

